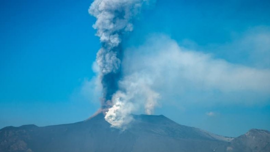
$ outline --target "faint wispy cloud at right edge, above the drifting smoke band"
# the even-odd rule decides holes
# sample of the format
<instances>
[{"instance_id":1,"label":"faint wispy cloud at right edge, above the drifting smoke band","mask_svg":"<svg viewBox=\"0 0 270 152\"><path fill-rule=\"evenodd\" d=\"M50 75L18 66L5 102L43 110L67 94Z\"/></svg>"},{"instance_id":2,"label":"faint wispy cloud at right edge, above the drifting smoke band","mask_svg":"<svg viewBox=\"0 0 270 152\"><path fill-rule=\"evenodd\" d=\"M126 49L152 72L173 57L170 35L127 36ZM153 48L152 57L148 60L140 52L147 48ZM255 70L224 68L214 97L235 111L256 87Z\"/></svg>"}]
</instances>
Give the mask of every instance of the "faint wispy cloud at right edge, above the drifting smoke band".
<instances>
[{"instance_id":1,"label":"faint wispy cloud at right edge, above the drifting smoke band","mask_svg":"<svg viewBox=\"0 0 270 152\"><path fill-rule=\"evenodd\" d=\"M270 27L256 26L249 30L232 33L231 42L225 44L207 44L198 46L191 40L185 40L182 44L214 53L228 62L246 65L255 68L270 68Z\"/></svg>"}]
</instances>

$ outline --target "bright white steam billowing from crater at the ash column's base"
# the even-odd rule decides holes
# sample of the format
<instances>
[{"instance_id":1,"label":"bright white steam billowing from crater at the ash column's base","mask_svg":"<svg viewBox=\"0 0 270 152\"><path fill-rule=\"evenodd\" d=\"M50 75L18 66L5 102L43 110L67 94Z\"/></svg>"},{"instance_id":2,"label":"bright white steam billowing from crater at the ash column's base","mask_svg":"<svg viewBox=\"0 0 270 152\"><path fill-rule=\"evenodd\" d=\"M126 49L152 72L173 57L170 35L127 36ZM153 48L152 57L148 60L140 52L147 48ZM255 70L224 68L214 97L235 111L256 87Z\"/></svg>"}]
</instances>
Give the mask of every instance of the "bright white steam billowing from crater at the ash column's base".
<instances>
[{"instance_id":1,"label":"bright white steam billowing from crater at the ash column's base","mask_svg":"<svg viewBox=\"0 0 270 152\"><path fill-rule=\"evenodd\" d=\"M153 114L158 105L159 94L151 89L152 79L143 73L126 76L119 82L119 87L125 92L118 91L113 95L113 107L106 113L107 120L113 127L127 127L131 122L131 113L144 108L146 114Z\"/></svg>"}]
</instances>

